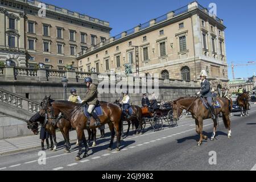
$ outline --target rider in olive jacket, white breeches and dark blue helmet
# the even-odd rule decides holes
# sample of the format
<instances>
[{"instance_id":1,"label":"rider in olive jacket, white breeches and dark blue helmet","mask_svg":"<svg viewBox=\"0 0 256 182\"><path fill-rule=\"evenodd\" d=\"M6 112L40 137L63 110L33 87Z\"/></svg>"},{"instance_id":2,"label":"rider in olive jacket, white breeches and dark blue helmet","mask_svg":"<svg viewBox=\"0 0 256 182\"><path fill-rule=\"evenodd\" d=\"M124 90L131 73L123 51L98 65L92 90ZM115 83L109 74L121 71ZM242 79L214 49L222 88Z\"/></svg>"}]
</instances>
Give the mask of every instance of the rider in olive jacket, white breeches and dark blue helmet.
<instances>
[{"instance_id":1,"label":"rider in olive jacket, white breeches and dark blue helmet","mask_svg":"<svg viewBox=\"0 0 256 182\"><path fill-rule=\"evenodd\" d=\"M95 106L97 105L97 102L98 102L97 86L92 83L92 78L90 78L90 77L85 78L84 82L86 83L86 86L87 86L87 92L86 92L86 97L84 98L84 100L82 100L82 102L88 103L88 105L89 105L88 113L90 114L90 116L92 116L95 119L95 121L96 121L95 125L100 126L101 121L98 118L97 114L93 112L93 109L95 108ZM88 119L88 122L90 123L89 119Z\"/></svg>"}]
</instances>

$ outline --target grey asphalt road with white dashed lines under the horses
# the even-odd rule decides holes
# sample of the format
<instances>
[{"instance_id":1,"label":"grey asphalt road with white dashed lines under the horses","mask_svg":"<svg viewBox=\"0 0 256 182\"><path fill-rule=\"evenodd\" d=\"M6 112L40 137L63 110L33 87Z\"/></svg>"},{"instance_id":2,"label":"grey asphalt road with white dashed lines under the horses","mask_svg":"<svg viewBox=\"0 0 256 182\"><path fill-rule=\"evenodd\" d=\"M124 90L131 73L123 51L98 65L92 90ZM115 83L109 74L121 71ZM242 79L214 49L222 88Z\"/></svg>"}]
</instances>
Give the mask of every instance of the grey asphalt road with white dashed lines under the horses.
<instances>
[{"instance_id":1,"label":"grey asphalt road with white dashed lines under the horses","mask_svg":"<svg viewBox=\"0 0 256 182\"><path fill-rule=\"evenodd\" d=\"M239 113L234 113L238 114ZM56 152L46 151L46 157L38 155L39 150L19 152L0 156L0 171L5 170L256 170L256 105L251 106L249 116L231 118L232 137L228 139L222 119L217 127L217 140L204 140L197 146L199 135L193 119L179 122L177 127L142 135L129 135L121 142L121 151L106 150L109 136L97 140L97 146L90 147L89 156L75 161L77 146L65 154L63 147ZM149 127L149 126L146 126ZM204 121L204 133L210 138L213 122ZM115 141L115 139L114 139ZM114 143L115 146L115 143ZM212 160L212 152L216 160ZM209 155L209 152L211 155ZM39 164L44 158L46 164ZM209 164L216 162L216 164Z\"/></svg>"}]
</instances>

